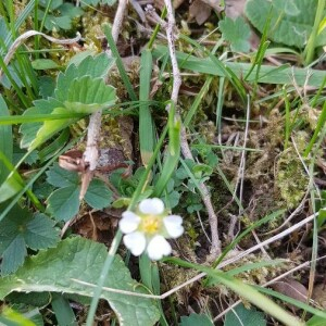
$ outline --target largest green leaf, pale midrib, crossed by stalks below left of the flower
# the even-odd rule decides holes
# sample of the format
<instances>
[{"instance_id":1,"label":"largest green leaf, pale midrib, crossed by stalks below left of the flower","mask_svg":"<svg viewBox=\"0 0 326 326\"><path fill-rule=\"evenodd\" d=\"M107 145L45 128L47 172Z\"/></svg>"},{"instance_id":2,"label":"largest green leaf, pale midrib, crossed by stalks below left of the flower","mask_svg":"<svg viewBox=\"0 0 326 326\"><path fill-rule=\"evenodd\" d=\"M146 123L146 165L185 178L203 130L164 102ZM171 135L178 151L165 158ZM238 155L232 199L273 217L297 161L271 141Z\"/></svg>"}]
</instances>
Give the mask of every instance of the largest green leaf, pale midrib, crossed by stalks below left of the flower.
<instances>
[{"instance_id":1,"label":"largest green leaf, pale midrib, crossed by stalks below left of the flower","mask_svg":"<svg viewBox=\"0 0 326 326\"><path fill-rule=\"evenodd\" d=\"M65 239L54 249L27 258L14 275L0 279L0 299L12 291L53 291L91 298L93 288L80 285L74 279L97 284L106 255L103 244L80 237ZM129 271L117 255L104 286L131 292L147 292L131 279ZM110 291L103 291L101 298L108 300L120 325L152 326L160 318L156 303L152 299Z\"/></svg>"}]
</instances>

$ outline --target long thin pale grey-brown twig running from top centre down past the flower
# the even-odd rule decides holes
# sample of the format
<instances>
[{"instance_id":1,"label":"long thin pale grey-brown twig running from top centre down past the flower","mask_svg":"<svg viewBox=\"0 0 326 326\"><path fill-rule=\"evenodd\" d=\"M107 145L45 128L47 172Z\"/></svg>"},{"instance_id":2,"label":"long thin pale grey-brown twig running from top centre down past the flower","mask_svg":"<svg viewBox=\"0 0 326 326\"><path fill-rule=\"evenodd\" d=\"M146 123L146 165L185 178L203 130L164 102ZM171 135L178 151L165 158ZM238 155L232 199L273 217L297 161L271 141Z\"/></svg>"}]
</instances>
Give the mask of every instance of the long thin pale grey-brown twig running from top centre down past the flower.
<instances>
[{"instance_id":1,"label":"long thin pale grey-brown twig running from top centre down past the flower","mask_svg":"<svg viewBox=\"0 0 326 326\"><path fill-rule=\"evenodd\" d=\"M166 11L167 11L166 36L167 36L168 51L170 51L170 57L171 57L172 71L173 71L173 89L172 89L171 100L176 105L177 100L178 100L179 88L181 85L181 77L180 77L177 59L175 55L175 46L174 46L175 18L174 18L173 7L171 3L171 0L164 0L164 2L165 2ZM167 105L166 109L168 110L170 105ZM184 125L181 126L180 137L181 137L180 142L181 142L183 155L186 159L193 160L191 150L190 150L188 141L187 141L187 134L186 134L186 128ZM220 241L218 231L217 231L217 216L214 212L214 208L213 208L212 200L210 197L209 188L203 183L200 184L199 187L200 187L200 193L201 193L202 201L203 201L203 203L206 208L208 214L209 214L209 223L210 223L211 236L212 236L211 254L208 258L208 261L213 261L221 253L221 241Z\"/></svg>"}]
</instances>

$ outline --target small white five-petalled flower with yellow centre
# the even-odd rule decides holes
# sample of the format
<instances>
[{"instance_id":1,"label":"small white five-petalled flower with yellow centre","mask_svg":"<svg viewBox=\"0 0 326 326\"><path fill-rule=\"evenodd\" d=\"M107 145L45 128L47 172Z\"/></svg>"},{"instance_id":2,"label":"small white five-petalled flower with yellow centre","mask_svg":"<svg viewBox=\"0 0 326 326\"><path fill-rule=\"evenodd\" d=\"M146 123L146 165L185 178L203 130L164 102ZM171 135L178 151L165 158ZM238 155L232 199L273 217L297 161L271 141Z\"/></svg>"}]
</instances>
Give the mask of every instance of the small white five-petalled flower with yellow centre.
<instances>
[{"instance_id":1,"label":"small white five-petalled flower with yellow centre","mask_svg":"<svg viewBox=\"0 0 326 326\"><path fill-rule=\"evenodd\" d=\"M160 260L172 252L168 238L178 238L184 233L183 218L167 215L159 198L142 200L136 213L126 211L118 223L125 246L134 255L147 251L151 260Z\"/></svg>"}]
</instances>

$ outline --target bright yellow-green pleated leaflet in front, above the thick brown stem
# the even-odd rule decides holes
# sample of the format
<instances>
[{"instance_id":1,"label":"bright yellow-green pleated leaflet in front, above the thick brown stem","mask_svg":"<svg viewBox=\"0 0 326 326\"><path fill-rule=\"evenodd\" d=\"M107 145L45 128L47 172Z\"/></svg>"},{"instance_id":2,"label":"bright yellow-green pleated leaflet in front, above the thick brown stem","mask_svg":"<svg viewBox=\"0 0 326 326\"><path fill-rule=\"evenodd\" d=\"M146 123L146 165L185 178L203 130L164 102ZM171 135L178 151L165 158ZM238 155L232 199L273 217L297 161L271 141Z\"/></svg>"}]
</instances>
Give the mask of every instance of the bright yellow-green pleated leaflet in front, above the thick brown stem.
<instances>
[{"instance_id":1,"label":"bright yellow-green pleated leaflet in front, above the thick brown stem","mask_svg":"<svg viewBox=\"0 0 326 326\"><path fill-rule=\"evenodd\" d=\"M64 105L74 112L93 113L115 103L115 89L102 78L84 76L72 82L66 89Z\"/></svg>"}]
</instances>

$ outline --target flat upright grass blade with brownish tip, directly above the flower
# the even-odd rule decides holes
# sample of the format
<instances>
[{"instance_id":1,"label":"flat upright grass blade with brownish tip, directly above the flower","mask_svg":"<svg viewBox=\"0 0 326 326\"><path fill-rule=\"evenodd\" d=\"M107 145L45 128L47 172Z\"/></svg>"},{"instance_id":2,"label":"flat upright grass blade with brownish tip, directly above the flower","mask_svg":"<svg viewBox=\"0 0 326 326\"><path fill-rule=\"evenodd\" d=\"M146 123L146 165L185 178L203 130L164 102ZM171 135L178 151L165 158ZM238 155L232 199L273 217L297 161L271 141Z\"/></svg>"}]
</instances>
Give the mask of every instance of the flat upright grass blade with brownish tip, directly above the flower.
<instances>
[{"instance_id":1,"label":"flat upright grass blade with brownish tip, directly above the flower","mask_svg":"<svg viewBox=\"0 0 326 326\"><path fill-rule=\"evenodd\" d=\"M139 148L142 164L146 166L154 149L154 126L149 108L149 95L152 75L152 53L145 49L140 58L139 76Z\"/></svg>"}]
</instances>

